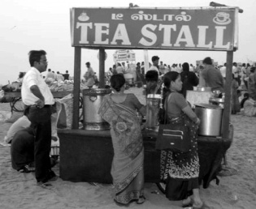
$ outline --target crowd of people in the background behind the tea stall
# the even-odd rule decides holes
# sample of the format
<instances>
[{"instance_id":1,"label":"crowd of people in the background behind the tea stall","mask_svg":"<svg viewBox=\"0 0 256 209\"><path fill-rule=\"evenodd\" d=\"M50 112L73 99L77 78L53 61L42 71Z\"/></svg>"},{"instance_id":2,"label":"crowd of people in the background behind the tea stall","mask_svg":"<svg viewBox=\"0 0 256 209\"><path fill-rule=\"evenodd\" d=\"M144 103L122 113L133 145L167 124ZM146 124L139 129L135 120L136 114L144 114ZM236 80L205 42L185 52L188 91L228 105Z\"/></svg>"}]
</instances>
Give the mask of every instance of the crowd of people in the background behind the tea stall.
<instances>
[{"instance_id":1,"label":"crowd of people in the background behind the tea stall","mask_svg":"<svg viewBox=\"0 0 256 209\"><path fill-rule=\"evenodd\" d=\"M148 67L145 67L145 62L137 62L136 66L132 63L116 63L106 72L106 83L115 74L132 74L132 81L137 87L142 87L145 84L145 69L156 70L159 78L163 78L170 71L176 71L181 75L183 89L181 92L184 97L186 90L193 90L193 87L211 87L212 91L219 90L224 92L226 82L227 64L218 65L210 58L200 62L194 66L192 63L173 63L171 65L159 61L158 56L153 56ZM127 65L126 65L127 64ZM232 63L232 113L239 113L241 109L241 100L246 97L254 103L256 100L256 67L249 63Z\"/></svg>"}]
</instances>

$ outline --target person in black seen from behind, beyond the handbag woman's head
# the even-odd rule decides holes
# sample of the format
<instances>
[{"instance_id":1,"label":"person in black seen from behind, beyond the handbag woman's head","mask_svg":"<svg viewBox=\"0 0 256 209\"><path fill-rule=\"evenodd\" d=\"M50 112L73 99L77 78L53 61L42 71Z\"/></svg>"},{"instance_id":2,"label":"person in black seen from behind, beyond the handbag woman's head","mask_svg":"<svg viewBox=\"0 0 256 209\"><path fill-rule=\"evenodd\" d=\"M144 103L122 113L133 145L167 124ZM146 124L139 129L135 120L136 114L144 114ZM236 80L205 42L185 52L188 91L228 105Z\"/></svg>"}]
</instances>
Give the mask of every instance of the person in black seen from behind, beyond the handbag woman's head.
<instances>
[{"instance_id":1,"label":"person in black seen from behind, beyond the handbag woman's head","mask_svg":"<svg viewBox=\"0 0 256 209\"><path fill-rule=\"evenodd\" d=\"M197 75L193 71L189 71L189 63L182 64L182 72L180 73L182 81L182 94L186 98L187 90L193 90L193 87L198 85Z\"/></svg>"}]
</instances>

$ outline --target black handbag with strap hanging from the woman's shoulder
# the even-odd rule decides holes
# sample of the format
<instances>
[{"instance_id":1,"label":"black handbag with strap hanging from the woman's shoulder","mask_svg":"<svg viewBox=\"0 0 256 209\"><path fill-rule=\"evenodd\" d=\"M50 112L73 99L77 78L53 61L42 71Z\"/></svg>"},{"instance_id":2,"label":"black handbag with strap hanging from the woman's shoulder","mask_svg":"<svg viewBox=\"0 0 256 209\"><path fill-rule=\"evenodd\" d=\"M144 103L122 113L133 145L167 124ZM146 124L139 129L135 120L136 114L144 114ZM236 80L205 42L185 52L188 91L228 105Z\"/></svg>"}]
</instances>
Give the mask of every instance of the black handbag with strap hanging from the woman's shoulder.
<instances>
[{"instance_id":1,"label":"black handbag with strap hanging from the woman's shoulder","mask_svg":"<svg viewBox=\"0 0 256 209\"><path fill-rule=\"evenodd\" d=\"M171 95L170 95L171 98ZM169 98L169 100L170 100ZM167 107L167 100L166 100ZM165 111L167 118L167 109ZM184 123L184 115L177 124L160 124L158 130L158 138L155 144L157 150L167 150L174 152L188 152L191 148L191 140L189 137L189 126ZM165 121L169 121L168 118Z\"/></svg>"}]
</instances>

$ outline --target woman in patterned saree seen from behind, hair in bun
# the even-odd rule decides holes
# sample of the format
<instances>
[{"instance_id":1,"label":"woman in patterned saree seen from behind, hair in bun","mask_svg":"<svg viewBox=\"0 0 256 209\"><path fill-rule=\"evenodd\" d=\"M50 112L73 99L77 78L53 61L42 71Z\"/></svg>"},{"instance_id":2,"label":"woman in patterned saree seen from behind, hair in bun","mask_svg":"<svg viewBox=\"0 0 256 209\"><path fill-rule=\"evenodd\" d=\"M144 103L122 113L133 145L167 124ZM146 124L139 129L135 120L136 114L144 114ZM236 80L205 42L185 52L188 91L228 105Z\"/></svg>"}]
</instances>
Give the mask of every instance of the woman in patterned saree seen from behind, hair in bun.
<instances>
[{"instance_id":1,"label":"woman in patterned saree seen from behind, hair in bun","mask_svg":"<svg viewBox=\"0 0 256 209\"><path fill-rule=\"evenodd\" d=\"M133 201L138 204L145 202L144 147L141 122L137 117L137 111L145 115L145 106L134 94L124 93L124 84L124 75L111 76L112 93L104 96L98 113L111 125L114 201L118 205L128 206Z\"/></svg>"}]
</instances>

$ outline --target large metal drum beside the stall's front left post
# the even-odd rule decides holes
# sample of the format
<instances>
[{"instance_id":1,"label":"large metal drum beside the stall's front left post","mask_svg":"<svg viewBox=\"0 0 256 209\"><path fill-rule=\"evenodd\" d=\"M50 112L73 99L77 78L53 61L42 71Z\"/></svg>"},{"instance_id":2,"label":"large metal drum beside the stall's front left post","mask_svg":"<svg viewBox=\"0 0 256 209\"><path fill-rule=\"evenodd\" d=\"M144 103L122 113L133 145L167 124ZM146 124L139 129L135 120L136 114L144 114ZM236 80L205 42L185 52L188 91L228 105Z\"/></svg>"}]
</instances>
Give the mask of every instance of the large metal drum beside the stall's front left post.
<instances>
[{"instance_id":1,"label":"large metal drum beside the stall's front left post","mask_svg":"<svg viewBox=\"0 0 256 209\"><path fill-rule=\"evenodd\" d=\"M83 124L85 130L109 130L110 125L98 114L103 96L111 93L111 89L95 88L83 90Z\"/></svg>"}]
</instances>

